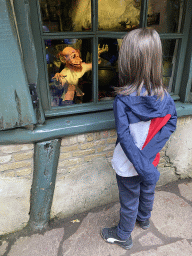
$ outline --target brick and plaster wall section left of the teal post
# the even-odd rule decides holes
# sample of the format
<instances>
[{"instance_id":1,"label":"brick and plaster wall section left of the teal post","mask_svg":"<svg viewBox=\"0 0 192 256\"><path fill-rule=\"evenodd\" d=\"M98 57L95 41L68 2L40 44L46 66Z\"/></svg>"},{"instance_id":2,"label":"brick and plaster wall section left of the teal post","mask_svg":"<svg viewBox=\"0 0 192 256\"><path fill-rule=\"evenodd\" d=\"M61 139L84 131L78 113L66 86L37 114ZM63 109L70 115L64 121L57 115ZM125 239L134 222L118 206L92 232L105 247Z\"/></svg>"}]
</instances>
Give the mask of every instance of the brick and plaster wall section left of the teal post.
<instances>
[{"instance_id":1,"label":"brick and plaster wall section left of the teal post","mask_svg":"<svg viewBox=\"0 0 192 256\"><path fill-rule=\"evenodd\" d=\"M26 225L33 174L33 144L0 146L0 234Z\"/></svg>"}]
</instances>

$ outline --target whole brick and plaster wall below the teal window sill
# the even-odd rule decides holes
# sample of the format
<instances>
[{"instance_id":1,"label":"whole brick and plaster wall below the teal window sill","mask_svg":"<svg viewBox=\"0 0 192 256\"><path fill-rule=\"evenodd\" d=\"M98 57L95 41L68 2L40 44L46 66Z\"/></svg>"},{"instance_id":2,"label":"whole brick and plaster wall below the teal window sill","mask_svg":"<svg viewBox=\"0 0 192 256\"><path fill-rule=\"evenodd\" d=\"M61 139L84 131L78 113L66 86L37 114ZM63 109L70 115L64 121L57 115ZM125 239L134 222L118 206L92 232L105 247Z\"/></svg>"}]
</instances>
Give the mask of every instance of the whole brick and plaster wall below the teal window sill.
<instances>
[{"instance_id":1,"label":"whole brick and plaster wall below the teal window sill","mask_svg":"<svg viewBox=\"0 0 192 256\"><path fill-rule=\"evenodd\" d=\"M160 152L158 186L192 177L192 116L178 119ZM115 130L62 139L51 217L67 217L118 200L111 158ZM0 234L26 225L33 174L33 144L0 146Z\"/></svg>"}]
</instances>

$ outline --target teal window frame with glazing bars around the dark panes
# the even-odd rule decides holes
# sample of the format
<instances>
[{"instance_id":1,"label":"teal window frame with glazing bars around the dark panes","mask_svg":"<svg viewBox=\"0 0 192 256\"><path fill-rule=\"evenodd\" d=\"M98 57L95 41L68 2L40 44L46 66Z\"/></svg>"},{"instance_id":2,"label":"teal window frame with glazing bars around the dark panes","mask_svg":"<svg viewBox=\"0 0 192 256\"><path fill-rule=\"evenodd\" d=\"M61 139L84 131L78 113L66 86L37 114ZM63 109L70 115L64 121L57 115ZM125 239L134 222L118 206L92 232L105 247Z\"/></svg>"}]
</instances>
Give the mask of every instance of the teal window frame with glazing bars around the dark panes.
<instances>
[{"instance_id":1,"label":"teal window frame with glazing bars around the dark panes","mask_svg":"<svg viewBox=\"0 0 192 256\"><path fill-rule=\"evenodd\" d=\"M30 0L30 9L32 20L33 37L37 52L37 61L39 69L39 91L42 106L44 109L45 117L66 116L70 114L90 113L97 111L107 111L112 109L112 101L98 102L98 39L99 38L122 38L126 32L114 32L114 31L99 31L98 30L98 1L92 0L92 30L82 32L54 32L46 33L42 31L41 25L41 11L38 0ZM191 21L191 1L184 1L185 16L182 21L183 29L182 33L164 33L160 34L162 40L177 40L178 41L178 53L175 68L173 69L173 84L171 95L175 100L181 98L181 81L182 70L184 68L185 55L187 50L187 42L189 35L189 27ZM140 27L147 26L147 13L148 13L148 0L141 1L141 14L140 14ZM93 102L77 104L71 107L51 108L49 101L49 89L47 82L47 68L45 57L45 44L44 40L48 39L65 39L65 38L90 38L92 40L92 54L93 54ZM183 85L182 85L183 86ZM185 88L186 90L186 88ZM186 101L186 97L183 101Z\"/></svg>"}]
</instances>

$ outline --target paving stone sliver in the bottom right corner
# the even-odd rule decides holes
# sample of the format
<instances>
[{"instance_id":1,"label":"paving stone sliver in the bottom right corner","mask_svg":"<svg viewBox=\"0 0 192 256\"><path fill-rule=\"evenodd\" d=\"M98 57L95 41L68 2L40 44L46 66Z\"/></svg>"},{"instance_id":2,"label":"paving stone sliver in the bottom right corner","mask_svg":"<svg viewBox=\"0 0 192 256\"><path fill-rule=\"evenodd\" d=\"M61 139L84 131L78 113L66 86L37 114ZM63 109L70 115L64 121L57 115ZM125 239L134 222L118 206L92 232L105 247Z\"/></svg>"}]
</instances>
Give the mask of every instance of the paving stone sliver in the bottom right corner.
<instances>
[{"instance_id":1,"label":"paving stone sliver in the bottom right corner","mask_svg":"<svg viewBox=\"0 0 192 256\"><path fill-rule=\"evenodd\" d=\"M191 256L192 246L187 240L177 241L176 243L160 246L157 250L141 251L130 254L130 256Z\"/></svg>"}]
</instances>

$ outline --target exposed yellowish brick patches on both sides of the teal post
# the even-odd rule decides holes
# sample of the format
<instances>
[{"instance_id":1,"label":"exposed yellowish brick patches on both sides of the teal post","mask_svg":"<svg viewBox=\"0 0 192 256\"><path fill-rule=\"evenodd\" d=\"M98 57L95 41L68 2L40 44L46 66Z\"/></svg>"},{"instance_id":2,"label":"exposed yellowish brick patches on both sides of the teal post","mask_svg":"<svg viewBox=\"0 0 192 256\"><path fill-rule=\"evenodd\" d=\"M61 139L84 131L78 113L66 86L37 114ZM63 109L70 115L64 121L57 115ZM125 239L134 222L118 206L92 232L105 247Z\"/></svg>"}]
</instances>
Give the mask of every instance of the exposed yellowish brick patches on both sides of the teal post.
<instances>
[{"instance_id":1,"label":"exposed yellowish brick patches on both sides of the teal post","mask_svg":"<svg viewBox=\"0 0 192 256\"><path fill-rule=\"evenodd\" d=\"M65 137L61 141L58 179L79 165L95 158L111 159L116 142L115 130ZM0 146L0 176L32 179L33 144Z\"/></svg>"}]
</instances>

